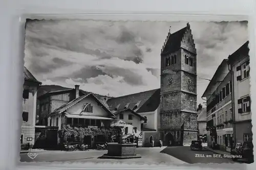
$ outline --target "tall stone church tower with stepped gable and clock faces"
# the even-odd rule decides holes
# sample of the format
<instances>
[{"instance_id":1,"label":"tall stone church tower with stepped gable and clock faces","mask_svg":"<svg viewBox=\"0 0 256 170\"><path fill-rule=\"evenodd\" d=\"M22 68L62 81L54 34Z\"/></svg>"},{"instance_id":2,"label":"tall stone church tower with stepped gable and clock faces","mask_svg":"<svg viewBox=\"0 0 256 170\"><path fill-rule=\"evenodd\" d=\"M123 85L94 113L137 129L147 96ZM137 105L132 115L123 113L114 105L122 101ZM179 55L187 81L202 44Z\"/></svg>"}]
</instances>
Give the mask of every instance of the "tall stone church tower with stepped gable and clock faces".
<instances>
[{"instance_id":1,"label":"tall stone church tower with stepped gable and clock faces","mask_svg":"<svg viewBox=\"0 0 256 170\"><path fill-rule=\"evenodd\" d=\"M164 145L197 140L197 52L189 23L161 50L160 138Z\"/></svg>"}]
</instances>

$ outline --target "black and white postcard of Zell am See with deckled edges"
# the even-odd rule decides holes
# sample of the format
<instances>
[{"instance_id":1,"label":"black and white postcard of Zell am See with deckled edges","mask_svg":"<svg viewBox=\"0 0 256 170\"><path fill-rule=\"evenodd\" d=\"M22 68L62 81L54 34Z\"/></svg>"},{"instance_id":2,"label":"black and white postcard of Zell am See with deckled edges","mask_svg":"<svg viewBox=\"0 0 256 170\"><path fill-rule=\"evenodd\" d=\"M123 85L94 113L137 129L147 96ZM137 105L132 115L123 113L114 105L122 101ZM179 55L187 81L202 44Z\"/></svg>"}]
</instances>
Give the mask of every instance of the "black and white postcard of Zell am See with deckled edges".
<instances>
[{"instance_id":1,"label":"black and white postcard of Zell am See with deckled edges","mask_svg":"<svg viewBox=\"0 0 256 170\"><path fill-rule=\"evenodd\" d=\"M21 162L252 163L248 21L27 19Z\"/></svg>"}]
</instances>

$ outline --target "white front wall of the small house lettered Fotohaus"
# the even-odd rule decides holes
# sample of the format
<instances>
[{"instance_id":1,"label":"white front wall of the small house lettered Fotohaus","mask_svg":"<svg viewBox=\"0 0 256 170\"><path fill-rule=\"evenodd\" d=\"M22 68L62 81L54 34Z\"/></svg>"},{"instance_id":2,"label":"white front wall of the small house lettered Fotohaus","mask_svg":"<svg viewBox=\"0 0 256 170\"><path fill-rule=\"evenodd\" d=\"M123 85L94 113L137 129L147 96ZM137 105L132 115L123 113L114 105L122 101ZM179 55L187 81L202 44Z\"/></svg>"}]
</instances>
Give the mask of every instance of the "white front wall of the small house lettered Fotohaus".
<instances>
[{"instance_id":1,"label":"white front wall of the small house lettered Fotohaus","mask_svg":"<svg viewBox=\"0 0 256 170\"><path fill-rule=\"evenodd\" d=\"M123 114L123 119L119 118L119 114L116 114L117 119L112 122L112 126L120 126L120 127L128 127L128 134L135 134L136 136L140 134L140 117L136 116L135 114L131 113L130 111L124 111L121 112L121 114ZM131 114L133 115L133 119L129 120L128 119L128 115ZM132 125L127 125L126 123L132 123ZM133 133L133 128L137 128L137 133Z\"/></svg>"}]
</instances>

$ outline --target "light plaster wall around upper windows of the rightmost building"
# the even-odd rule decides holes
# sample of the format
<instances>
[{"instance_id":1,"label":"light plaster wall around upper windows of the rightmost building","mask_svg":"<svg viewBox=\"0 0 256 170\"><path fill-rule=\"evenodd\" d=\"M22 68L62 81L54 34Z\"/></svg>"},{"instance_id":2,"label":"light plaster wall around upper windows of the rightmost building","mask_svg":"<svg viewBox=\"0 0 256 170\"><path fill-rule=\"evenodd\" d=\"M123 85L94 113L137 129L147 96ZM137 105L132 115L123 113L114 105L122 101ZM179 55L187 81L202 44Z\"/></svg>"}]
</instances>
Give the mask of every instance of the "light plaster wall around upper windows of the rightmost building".
<instances>
[{"instance_id":1,"label":"light plaster wall around upper windows of the rightmost building","mask_svg":"<svg viewBox=\"0 0 256 170\"><path fill-rule=\"evenodd\" d=\"M248 120L251 119L251 112L246 113L238 113L238 99L241 99L243 97L246 97L250 94L250 76L246 79L243 79L241 81L237 81L237 67L244 62L246 62L249 59L249 57L245 57L243 60L237 62L233 65L232 71L233 71L233 90L234 90L234 115L235 115L235 121L242 121L242 120ZM252 74L252 72L250 72Z\"/></svg>"}]
</instances>

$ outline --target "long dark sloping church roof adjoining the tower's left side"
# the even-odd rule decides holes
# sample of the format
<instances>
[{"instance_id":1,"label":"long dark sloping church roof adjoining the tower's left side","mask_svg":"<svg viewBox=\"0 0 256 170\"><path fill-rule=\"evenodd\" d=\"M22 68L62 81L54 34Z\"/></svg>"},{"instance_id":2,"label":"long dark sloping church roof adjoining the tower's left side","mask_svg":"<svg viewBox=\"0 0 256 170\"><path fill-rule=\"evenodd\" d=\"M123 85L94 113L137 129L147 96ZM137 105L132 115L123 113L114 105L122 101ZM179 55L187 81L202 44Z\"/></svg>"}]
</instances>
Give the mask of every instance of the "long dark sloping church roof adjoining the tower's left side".
<instances>
[{"instance_id":1,"label":"long dark sloping church roof adjoining the tower's left side","mask_svg":"<svg viewBox=\"0 0 256 170\"><path fill-rule=\"evenodd\" d=\"M150 112L155 111L160 104L160 89L148 90L139 93L119 96L111 98L106 102L111 110L122 110L127 106L127 109L135 112Z\"/></svg>"}]
</instances>

